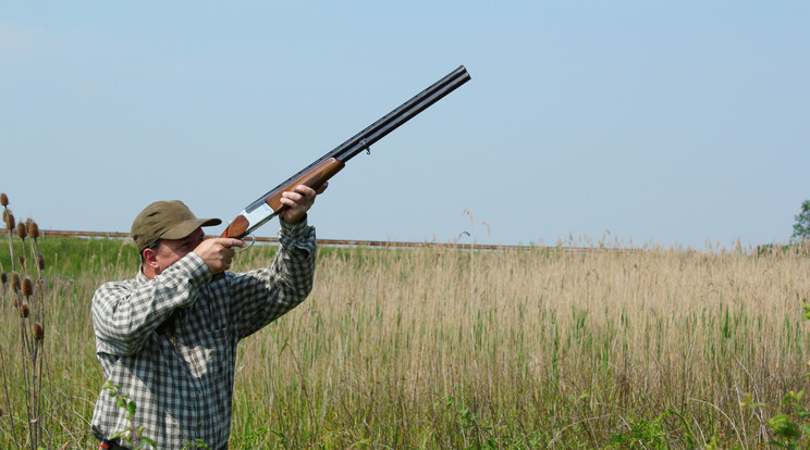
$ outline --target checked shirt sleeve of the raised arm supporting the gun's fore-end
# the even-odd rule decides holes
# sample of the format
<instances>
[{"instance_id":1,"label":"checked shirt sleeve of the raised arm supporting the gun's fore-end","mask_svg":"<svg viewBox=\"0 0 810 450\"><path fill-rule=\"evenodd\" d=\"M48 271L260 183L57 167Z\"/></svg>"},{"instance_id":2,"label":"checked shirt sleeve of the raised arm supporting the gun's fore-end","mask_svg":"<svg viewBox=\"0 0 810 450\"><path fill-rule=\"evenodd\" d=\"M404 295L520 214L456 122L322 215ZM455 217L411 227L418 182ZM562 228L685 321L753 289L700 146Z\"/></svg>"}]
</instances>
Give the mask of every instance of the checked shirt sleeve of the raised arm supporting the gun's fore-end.
<instances>
[{"instance_id":1,"label":"checked shirt sleeve of the raised arm supporting the gun's fore-end","mask_svg":"<svg viewBox=\"0 0 810 450\"><path fill-rule=\"evenodd\" d=\"M306 220L281 221L279 250L268 267L232 274L232 323L249 336L303 302L312 289L317 239Z\"/></svg>"}]
</instances>

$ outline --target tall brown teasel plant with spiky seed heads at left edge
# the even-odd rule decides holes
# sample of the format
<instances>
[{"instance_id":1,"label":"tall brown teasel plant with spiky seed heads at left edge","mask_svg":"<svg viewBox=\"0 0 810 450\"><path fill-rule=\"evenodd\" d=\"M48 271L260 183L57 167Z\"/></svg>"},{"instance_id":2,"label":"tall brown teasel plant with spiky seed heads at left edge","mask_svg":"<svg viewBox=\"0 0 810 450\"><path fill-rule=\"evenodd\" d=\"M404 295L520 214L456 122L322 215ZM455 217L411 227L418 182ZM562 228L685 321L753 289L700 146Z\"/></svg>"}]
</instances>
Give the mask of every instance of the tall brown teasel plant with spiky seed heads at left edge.
<instances>
[{"instance_id":1,"label":"tall brown teasel plant with spiky seed heads at left edge","mask_svg":"<svg viewBox=\"0 0 810 450\"><path fill-rule=\"evenodd\" d=\"M0 204L3 208L11 266L11 273L2 271L0 280L3 297L8 298L11 311L20 323L19 342L8 348L0 347L0 372L8 414L8 417L0 414L0 420L8 418L9 434L17 449L29 447L36 450L49 447L42 424L42 380L47 376L44 347L45 258L39 249L39 226L36 222L28 218L17 223L9 209L9 197L5 193L0 195ZM26 253L30 258L26 258ZM21 371L14 372L12 368L16 366L10 363L12 352L19 352L22 357ZM22 392L24 397L24 412L19 411L19 408L14 411L14 404L19 403L14 403L11 396L17 392ZM21 416L16 417L15 413Z\"/></svg>"}]
</instances>

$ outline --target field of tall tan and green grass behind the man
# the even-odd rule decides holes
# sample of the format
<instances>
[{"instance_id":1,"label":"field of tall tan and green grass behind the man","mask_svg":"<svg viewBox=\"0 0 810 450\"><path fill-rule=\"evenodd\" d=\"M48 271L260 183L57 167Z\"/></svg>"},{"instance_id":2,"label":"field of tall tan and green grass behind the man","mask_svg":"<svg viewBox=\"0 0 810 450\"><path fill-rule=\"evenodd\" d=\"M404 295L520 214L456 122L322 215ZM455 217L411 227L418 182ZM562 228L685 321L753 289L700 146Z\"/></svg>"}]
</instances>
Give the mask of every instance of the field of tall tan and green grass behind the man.
<instances>
[{"instance_id":1,"label":"field of tall tan and green grass behind the man","mask_svg":"<svg viewBox=\"0 0 810 450\"><path fill-rule=\"evenodd\" d=\"M137 255L40 240L39 439L89 448L89 301ZM807 385L809 270L735 250L322 248L309 299L241 346L231 448L765 448ZM3 292L0 448L27 448L30 364ZM769 408L740 408L747 393Z\"/></svg>"}]
</instances>

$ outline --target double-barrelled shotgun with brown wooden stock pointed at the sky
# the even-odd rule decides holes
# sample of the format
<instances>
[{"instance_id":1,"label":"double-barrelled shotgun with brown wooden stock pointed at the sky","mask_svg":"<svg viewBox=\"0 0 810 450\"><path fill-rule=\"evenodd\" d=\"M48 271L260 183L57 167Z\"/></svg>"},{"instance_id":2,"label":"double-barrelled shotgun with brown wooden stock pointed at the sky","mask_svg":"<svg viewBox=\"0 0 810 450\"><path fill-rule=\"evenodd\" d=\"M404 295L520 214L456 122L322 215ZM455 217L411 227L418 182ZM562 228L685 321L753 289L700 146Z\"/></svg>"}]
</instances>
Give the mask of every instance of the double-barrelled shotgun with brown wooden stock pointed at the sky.
<instances>
[{"instance_id":1,"label":"double-barrelled shotgun with brown wooden stock pointed at the sky","mask_svg":"<svg viewBox=\"0 0 810 450\"><path fill-rule=\"evenodd\" d=\"M309 164L286 182L248 204L236 218L228 225L221 237L242 239L253 230L273 218L287 207L281 203L281 193L291 191L298 185L306 185L318 189L323 182L340 172L348 160L361 151L371 152L371 145L382 139L400 125L425 111L428 107L441 100L470 79L467 70L461 65L442 79L417 93L397 109L391 111L379 121L369 125L363 132L338 146L334 150Z\"/></svg>"}]
</instances>

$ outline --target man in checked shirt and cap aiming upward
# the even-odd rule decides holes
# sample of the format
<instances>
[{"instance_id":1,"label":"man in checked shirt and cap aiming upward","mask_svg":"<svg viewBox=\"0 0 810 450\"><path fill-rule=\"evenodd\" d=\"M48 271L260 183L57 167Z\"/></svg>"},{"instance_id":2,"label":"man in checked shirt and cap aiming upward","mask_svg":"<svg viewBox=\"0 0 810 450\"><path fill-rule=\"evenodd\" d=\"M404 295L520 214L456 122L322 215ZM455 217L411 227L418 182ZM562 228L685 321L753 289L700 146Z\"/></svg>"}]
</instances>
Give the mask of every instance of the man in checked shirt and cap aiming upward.
<instances>
[{"instance_id":1,"label":"man in checked shirt and cap aiming upward","mask_svg":"<svg viewBox=\"0 0 810 450\"><path fill-rule=\"evenodd\" d=\"M226 449L231 433L236 346L309 295L315 273L315 228L307 211L318 191L284 192L279 250L269 267L225 272L231 238L205 239L202 226L180 201L159 201L135 218L132 236L142 266L135 278L101 286L93 297L96 353L105 377L136 410L132 422L109 389L100 392L91 432L101 448L139 429L158 449L205 442ZM122 447L123 446L123 447Z\"/></svg>"}]
</instances>

